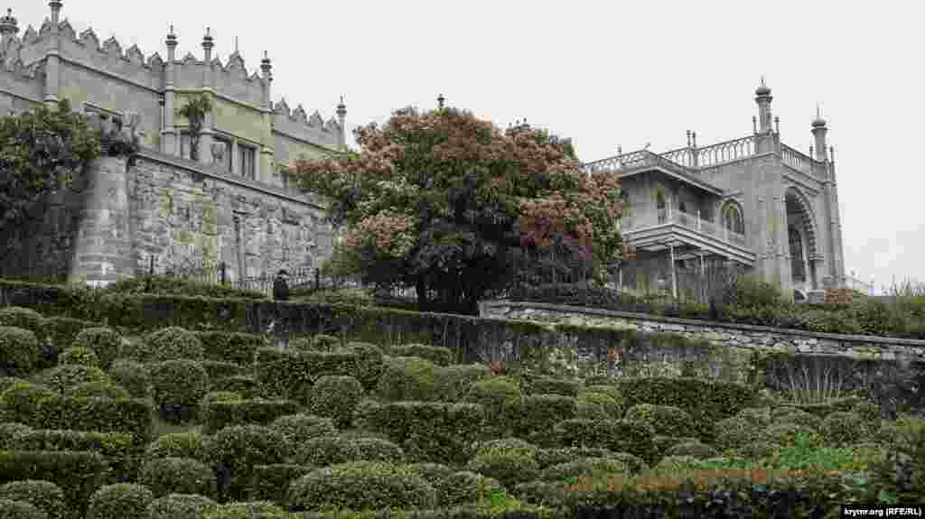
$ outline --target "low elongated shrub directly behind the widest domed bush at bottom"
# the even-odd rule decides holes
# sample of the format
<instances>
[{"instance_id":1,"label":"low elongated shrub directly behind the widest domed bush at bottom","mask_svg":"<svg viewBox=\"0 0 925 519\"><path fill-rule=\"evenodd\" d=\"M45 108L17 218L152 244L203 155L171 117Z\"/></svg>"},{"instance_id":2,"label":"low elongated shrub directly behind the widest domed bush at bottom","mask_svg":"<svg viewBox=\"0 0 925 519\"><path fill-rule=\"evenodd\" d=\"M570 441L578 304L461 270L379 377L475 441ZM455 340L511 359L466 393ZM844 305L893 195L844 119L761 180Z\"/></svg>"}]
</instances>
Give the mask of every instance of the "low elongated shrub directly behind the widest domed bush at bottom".
<instances>
[{"instance_id":1,"label":"low elongated shrub directly behind the widest domed bush at bottom","mask_svg":"<svg viewBox=\"0 0 925 519\"><path fill-rule=\"evenodd\" d=\"M403 457L401 447L388 440L334 436L305 441L293 461L298 465L327 466L359 461L400 463Z\"/></svg>"}]
</instances>

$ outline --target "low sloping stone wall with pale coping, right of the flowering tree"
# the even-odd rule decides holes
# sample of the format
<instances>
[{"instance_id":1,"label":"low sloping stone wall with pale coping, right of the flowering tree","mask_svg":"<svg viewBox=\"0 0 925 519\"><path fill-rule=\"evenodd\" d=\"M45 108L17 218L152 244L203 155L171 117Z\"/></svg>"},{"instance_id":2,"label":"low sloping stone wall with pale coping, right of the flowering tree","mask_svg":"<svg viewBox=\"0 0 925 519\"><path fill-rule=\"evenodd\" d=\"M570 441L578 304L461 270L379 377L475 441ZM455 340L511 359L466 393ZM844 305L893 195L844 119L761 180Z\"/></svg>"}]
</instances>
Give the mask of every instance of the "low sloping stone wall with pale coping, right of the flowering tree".
<instances>
[{"instance_id":1,"label":"low sloping stone wall with pale coping, right of the flowering tree","mask_svg":"<svg viewBox=\"0 0 925 519\"><path fill-rule=\"evenodd\" d=\"M925 362L925 341L910 339L803 332L746 324L658 317L597 308L513 301L483 301L479 304L479 315L483 318L538 320L639 332L672 332L684 335L688 339L703 339L709 341L710 344L735 349L896 360L904 363Z\"/></svg>"}]
</instances>

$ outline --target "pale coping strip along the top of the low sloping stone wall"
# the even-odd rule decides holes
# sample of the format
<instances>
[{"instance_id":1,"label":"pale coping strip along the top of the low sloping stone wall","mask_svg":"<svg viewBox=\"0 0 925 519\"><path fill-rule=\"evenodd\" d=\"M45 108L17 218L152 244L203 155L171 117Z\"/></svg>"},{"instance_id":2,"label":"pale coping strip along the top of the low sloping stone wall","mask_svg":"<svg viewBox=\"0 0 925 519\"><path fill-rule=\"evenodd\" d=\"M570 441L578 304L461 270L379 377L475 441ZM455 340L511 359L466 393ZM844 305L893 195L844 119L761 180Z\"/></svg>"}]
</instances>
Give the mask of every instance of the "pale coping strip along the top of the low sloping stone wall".
<instances>
[{"instance_id":1,"label":"pale coping strip along the top of the low sloping stone wall","mask_svg":"<svg viewBox=\"0 0 925 519\"><path fill-rule=\"evenodd\" d=\"M852 342L852 343L877 343L877 344L898 344L907 346L925 346L925 341L916 339L900 339L893 337L880 337L877 335L849 335L846 333L823 333L823 332L805 332L803 330L790 330L786 328L772 328L770 326L754 326L751 324L737 324L732 322L720 322L716 320L697 320L682 319L676 317L654 316L650 314L638 314L634 312L620 312L615 310L604 310L600 308L570 307L565 305L550 305L549 303L532 303L529 301L479 301L479 314L485 315L482 308L489 307L516 307L516 308L536 308L542 310L557 310L562 313L581 313L600 317L623 318L632 320L651 320L656 322L666 322L671 324L686 324L688 326L702 326L704 328L725 328L727 330L743 330L748 332L773 332L785 335L796 335L800 337L810 337L813 339L830 339L834 341Z\"/></svg>"}]
</instances>

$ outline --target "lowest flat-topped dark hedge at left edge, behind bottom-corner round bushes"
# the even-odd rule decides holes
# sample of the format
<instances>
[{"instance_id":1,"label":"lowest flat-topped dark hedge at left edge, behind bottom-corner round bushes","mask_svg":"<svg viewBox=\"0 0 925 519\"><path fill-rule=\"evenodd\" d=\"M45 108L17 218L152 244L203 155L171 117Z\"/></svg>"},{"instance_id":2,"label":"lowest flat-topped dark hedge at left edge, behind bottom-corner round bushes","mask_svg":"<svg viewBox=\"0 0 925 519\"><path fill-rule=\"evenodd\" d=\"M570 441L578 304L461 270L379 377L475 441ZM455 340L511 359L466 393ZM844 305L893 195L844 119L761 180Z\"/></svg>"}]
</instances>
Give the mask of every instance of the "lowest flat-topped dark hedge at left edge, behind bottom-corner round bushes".
<instances>
[{"instance_id":1,"label":"lowest flat-topped dark hedge at left edge, behind bottom-corner round bushes","mask_svg":"<svg viewBox=\"0 0 925 519\"><path fill-rule=\"evenodd\" d=\"M65 493L68 505L82 517L93 492L109 473L109 464L99 453L53 451L0 451L0 484L42 479Z\"/></svg>"}]
</instances>

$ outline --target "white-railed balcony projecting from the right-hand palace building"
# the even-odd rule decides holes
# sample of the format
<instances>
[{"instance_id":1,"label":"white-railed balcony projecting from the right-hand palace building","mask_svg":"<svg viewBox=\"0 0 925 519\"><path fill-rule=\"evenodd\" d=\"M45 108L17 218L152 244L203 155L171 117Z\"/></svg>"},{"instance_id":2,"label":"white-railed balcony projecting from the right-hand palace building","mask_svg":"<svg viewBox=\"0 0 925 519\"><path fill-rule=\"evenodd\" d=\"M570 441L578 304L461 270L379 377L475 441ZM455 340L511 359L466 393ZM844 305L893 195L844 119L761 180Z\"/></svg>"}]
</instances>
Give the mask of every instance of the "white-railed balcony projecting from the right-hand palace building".
<instances>
[{"instance_id":1,"label":"white-railed balcony projecting from the right-hand palace building","mask_svg":"<svg viewBox=\"0 0 925 519\"><path fill-rule=\"evenodd\" d=\"M669 207L624 216L620 226L625 242L637 249L658 252L673 248L675 254L717 255L749 267L755 263L755 252L748 247L745 235L699 218L697 214Z\"/></svg>"}]
</instances>

